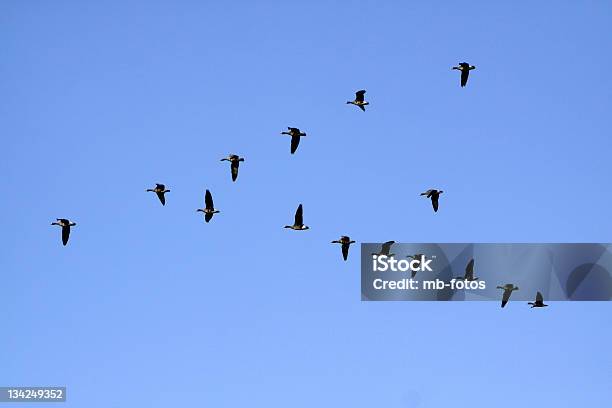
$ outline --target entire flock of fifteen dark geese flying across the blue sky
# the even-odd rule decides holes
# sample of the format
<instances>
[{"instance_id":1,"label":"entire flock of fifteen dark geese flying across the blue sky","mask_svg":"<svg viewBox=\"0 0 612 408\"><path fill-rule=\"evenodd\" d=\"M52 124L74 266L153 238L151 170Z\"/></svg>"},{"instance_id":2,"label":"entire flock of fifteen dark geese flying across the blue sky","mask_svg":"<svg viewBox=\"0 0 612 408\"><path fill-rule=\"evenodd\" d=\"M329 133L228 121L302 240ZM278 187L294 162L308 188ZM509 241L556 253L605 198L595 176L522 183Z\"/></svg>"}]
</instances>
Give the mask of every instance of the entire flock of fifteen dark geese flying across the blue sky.
<instances>
[{"instance_id":1,"label":"entire flock of fifteen dark geese flying across the blue sky","mask_svg":"<svg viewBox=\"0 0 612 408\"><path fill-rule=\"evenodd\" d=\"M461 84L461 87L464 87L467 85L470 71L476 69L476 67L468 64L467 62L461 62L457 66L452 67L452 69L458 70L461 72L460 84ZM350 105L355 105L359 109L365 112L366 106L370 104L368 101L365 100L365 94L366 94L365 89L359 90L355 92L355 99L352 101L347 101L346 103ZM281 132L281 134L291 136L291 146L290 146L291 154L295 154L298 146L300 145L300 139L306 136L306 132L303 132L299 128L296 128L296 127L288 127L287 130ZM240 163L244 162L244 157L240 157L236 154L230 154L227 157L224 157L223 159L221 159L221 161L228 161L230 163L230 172L231 172L232 181L235 182L238 179L238 169L240 168ZM170 190L167 189L164 184L156 183L155 188L147 189L146 191L155 193L157 195L157 198L161 202L161 204L166 205L166 193L169 193ZM438 212L440 194L442 194L443 192L444 191L442 190L429 189L421 193L421 196L425 196L426 198L429 198L431 200L431 205L433 207L434 212ZM206 222L210 222L213 216L220 212L218 209L215 208L212 194L209 190L206 190L206 193L204 195L204 208L198 208L196 211L204 213L204 221ZM70 230L72 227L76 225L76 223L70 221L67 218L57 218L56 222L53 222L51 225L57 225L62 228L62 244L63 245L68 244L68 239L70 237ZM303 210L302 204L298 205L298 208L295 211L293 225L285 225L285 228L292 229L295 231L305 231L310 228L304 224L304 210ZM349 236L343 235L339 239L331 241L331 243L341 245L342 258L346 261L348 259L349 248L351 244L355 243L355 241L351 240ZM393 243L395 243L395 241L385 242L383 244L381 252L377 255L387 255L387 256L393 255L393 254L389 255L389 249ZM423 259L423 257L424 257L423 254L415 254L415 255L409 256L409 258L417 259L417 260ZM474 260L471 260L467 267L471 270L471 274L468 273L468 270L466 269L466 275L464 277L466 280L478 279L478 278L473 277L473 267L474 267ZM412 275L413 278L415 274L416 272L413 272L413 275ZM504 307L506 303L508 302L508 300L510 299L510 295L512 294L512 292L514 290L518 290L518 287L514 286L513 284L506 284L504 286L498 286L498 289L504 290L503 298L502 298L502 307ZM530 302L529 304L532 305L532 307L547 306L544 304L543 297L540 292L537 293L535 302Z\"/></svg>"}]
</instances>

